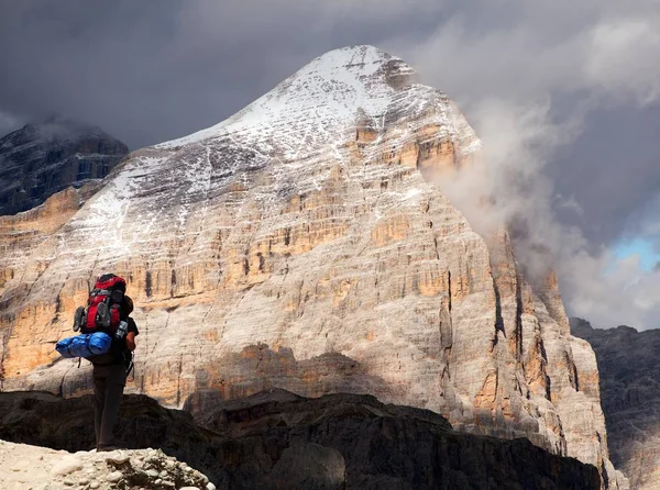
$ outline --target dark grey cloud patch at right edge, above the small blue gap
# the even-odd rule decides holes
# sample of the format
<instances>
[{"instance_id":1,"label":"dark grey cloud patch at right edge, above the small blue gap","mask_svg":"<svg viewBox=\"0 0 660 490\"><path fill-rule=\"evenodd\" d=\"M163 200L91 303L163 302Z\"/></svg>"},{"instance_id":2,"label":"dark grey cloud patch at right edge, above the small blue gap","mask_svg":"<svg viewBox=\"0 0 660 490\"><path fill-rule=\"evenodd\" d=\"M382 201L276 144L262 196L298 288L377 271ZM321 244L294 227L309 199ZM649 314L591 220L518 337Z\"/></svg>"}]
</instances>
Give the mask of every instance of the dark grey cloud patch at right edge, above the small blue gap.
<instances>
[{"instance_id":1,"label":"dark grey cloud patch at right edge, above the small blue gap","mask_svg":"<svg viewBox=\"0 0 660 490\"><path fill-rule=\"evenodd\" d=\"M556 188L580 207L560 209L563 221L584 230L594 245L617 240L660 190L659 122L658 105L594 110L575 142L547 167Z\"/></svg>"}]
</instances>

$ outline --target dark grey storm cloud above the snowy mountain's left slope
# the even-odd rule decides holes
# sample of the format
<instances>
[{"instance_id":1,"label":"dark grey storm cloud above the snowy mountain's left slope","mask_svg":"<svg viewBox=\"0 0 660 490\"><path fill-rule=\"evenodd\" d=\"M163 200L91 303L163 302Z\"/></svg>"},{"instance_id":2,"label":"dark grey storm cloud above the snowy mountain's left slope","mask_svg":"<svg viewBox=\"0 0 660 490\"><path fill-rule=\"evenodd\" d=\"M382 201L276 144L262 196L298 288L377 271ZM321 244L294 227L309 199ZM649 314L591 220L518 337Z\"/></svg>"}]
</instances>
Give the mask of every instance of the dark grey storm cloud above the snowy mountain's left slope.
<instances>
[{"instance_id":1,"label":"dark grey storm cloud above the snowy mountain's left slope","mask_svg":"<svg viewBox=\"0 0 660 490\"><path fill-rule=\"evenodd\" d=\"M399 9L386 2L372 2L373 14L341 1L0 5L4 119L15 124L62 112L132 148L226 119L326 51L380 44L407 24L433 25L416 10L402 11L402 24Z\"/></svg>"}]
</instances>

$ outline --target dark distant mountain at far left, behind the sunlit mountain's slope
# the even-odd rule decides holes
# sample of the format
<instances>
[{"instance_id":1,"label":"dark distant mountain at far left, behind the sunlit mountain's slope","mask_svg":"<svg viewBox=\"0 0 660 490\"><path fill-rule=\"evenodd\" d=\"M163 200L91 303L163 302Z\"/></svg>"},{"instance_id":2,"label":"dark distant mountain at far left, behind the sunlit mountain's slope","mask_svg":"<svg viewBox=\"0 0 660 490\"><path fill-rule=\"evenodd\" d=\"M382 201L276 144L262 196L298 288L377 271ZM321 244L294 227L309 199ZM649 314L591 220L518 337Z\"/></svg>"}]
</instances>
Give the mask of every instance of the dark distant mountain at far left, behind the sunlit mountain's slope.
<instances>
[{"instance_id":1,"label":"dark distant mountain at far left, behind the sunlit mountain's slope","mask_svg":"<svg viewBox=\"0 0 660 490\"><path fill-rule=\"evenodd\" d=\"M101 179L128 153L122 142L88 124L63 118L28 124L0 138L0 215Z\"/></svg>"}]
</instances>

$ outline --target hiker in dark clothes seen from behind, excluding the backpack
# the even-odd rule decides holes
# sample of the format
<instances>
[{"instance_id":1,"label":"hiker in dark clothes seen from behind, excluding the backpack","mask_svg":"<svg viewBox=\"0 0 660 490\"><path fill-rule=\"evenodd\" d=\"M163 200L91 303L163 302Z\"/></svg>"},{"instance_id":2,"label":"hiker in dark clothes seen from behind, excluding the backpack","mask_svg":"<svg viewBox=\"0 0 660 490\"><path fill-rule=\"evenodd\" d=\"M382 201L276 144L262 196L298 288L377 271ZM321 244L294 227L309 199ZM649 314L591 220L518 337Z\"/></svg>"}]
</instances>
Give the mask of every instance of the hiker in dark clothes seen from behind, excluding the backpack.
<instances>
[{"instance_id":1,"label":"hiker in dark clothes seen from behind, excluding the backpack","mask_svg":"<svg viewBox=\"0 0 660 490\"><path fill-rule=\"evenodd\" d=\"M127 383L127 377L133 367L135 336L140 333L133 312L133 300L125 296L121 302L121 327L125 335L113 338L107 354L90 357L94 365L94 428L97 452L112 450L114 446L113 428L119 415L119 404Z\"/></svg>"}]
</instances>

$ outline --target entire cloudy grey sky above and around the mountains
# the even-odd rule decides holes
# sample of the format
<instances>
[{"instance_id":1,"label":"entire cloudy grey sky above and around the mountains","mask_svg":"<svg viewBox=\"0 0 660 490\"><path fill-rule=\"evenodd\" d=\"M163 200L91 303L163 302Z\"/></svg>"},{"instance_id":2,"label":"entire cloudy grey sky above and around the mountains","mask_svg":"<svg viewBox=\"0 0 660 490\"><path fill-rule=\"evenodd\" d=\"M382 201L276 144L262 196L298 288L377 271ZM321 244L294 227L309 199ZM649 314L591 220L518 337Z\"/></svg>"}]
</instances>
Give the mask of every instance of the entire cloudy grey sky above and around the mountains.
<instances>
[{"instance_id":1,"label":"entire cloudy grey sky above and around the mountains","mask_svg":"<svg viewBox=\"0 0 660 490\"><path fill-rule=\"evenodd\" d=\"M0 134L62 113L136 149L354 44L458 102L488 177L447 193L510 223L530 274L551 263L569 314L660 327L657 0L0 0Z\"/></svg>"}]
</instances>

